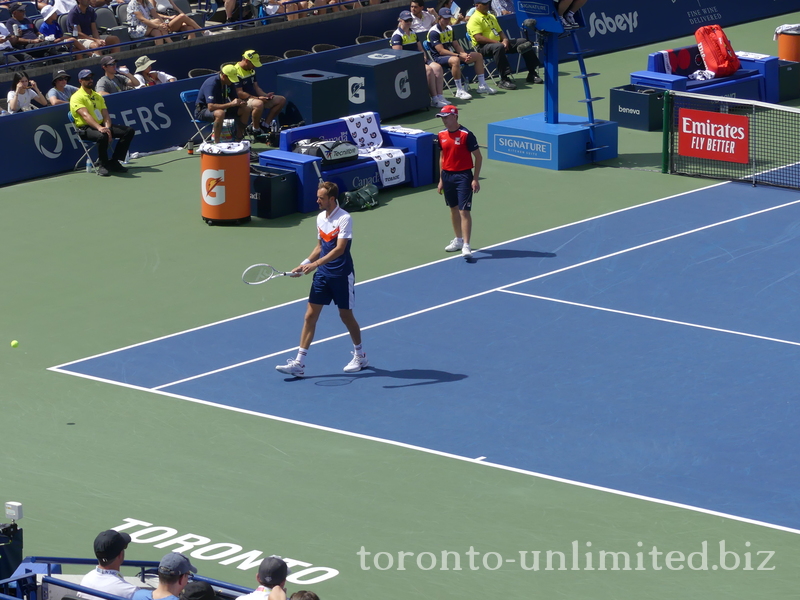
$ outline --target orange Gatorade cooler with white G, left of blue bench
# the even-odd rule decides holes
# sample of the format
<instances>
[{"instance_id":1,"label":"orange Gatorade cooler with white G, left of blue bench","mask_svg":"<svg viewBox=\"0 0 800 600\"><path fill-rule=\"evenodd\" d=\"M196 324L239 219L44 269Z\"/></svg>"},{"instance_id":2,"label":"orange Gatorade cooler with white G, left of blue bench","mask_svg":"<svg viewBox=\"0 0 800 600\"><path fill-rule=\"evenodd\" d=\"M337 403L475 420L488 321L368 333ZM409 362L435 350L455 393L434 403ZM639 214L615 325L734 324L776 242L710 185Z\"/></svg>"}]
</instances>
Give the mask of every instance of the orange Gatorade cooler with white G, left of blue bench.
<instances>
[{"instance_id":1,"label":"orange Gatorade cooler with white G, left of blue bench","mask_svg":"<svg viewBox=\"0 0 800 600\"><path fill-rule=\"evenodd\" d=\"M201 216L209 225L250 220L250 143L200 146Z\"/></svg>"}]
</instances>

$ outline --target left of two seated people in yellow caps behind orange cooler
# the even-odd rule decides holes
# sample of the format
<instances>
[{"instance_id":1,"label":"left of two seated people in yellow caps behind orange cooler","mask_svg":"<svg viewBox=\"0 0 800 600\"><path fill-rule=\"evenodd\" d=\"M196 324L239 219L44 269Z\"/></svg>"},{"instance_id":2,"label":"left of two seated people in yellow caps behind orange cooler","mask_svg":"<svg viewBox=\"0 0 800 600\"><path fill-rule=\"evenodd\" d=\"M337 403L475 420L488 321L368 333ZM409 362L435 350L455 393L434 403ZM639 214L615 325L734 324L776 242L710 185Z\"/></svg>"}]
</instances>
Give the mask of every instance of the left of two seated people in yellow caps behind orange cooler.
<instances>
[{"instance_id":1,"label":"left of two seated people in yellow caps behind orange cooler","mask_svg":"<svg viewBox=\"0 0 800 600\"><path fill-rule=\"evenodd\" d=\"M225 65L216 75L212 75L200 86L194 106L194 116L198 121L214 123L214 143L219 144L222 137L222 124L225 119L236 123L234 139L244 137L245 128L250 121L250 107L242 100L233 87L239 83L234 65Z\"/></svg>"}]
</instances>

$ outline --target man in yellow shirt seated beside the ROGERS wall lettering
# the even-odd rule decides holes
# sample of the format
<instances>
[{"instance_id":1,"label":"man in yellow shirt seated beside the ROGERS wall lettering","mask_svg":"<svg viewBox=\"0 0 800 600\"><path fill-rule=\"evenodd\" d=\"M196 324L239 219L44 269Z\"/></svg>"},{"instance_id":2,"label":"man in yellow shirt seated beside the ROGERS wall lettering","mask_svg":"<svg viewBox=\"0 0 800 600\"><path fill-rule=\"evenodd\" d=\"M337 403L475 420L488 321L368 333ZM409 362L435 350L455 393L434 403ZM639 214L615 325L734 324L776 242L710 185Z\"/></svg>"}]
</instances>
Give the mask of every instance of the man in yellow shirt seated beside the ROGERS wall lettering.
<instances>
[{"instance_id":1,"label":"man in yellow shirt seated beside the ROGERS wall lettering","mask_svg":"<svg viewBox=\"0 0 800 600\"><path fill-rule=\"evenodd\" d=\"M94 75L89 69L83 69L78 73L78 81L81 83L81 89L72 94L69 99L69 110L72 113L72 118L75 119L75 129L78 130L78 135L97 144L97 156L100 163L97 168L97 174L108 177L109 171L115 173L127 172L128 169L122 166L122 161L128 155L128 148L130 148L136 132L127 125L114 125L111 123L111 116L108 114L105 99L94 91ZM118 138L119 142L117 142L114 153L109 159L108 146L114 138ZM108 536L112 535L108 532L104 533ZM102 535L100 534L100 536ZM121 535L124 536L123 541L127 540L122 548L122 550L125 550L128 543L130 543L130 536L127 533L122 533ZM100 536L98 536L98 539ZM110 543L110 545L112 550L117 547L113 543ZM104 552L105 558L108 558L109 552ZM95 554L97 554L97 540L95 540ZM100 558L98 556L98 559ZM119 564L122 564L122 562L120 561ZM106 568L103 567L102 562L100 565L101 570ZM106 575L106 573L99 574ZM112 573L111 576L114 576L114 574Z\"/></svg>"}]
</instances>

